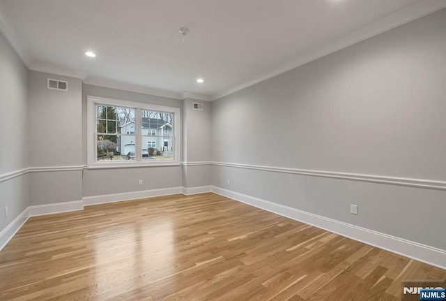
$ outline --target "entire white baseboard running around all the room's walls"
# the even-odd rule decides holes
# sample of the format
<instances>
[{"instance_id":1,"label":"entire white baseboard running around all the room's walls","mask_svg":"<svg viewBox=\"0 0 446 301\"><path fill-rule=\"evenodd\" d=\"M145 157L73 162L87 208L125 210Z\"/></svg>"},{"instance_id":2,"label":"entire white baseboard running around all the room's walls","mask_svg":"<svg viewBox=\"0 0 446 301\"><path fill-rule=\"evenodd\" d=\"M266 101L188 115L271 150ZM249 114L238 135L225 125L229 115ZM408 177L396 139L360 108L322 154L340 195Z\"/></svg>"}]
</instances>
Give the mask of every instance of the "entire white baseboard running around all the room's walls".
<instances>
[{"instance_id":1,"label":"entire white baseboard running around all the room's walls","mask_svg":"<svg viewBox=\"0 0 446 301\"><path fill-rule=\"evenodd\" d=\"M302 221L309 225L328 230L332 233L370 244L380 249L385 249L402 256L420 260L429 265L434 265L446 270L446 251L435 247L430 247L425 244L404 240L403 238L394 237L385 233L379 233L374 230L362 228L359 226L344 223L334 219L329 219L324 216L312 214L292 207L287 207L277 203L272 203L268 200L262 200L252 196L247 196L243 193L222 189L217 186L198 186L198 187L171 187L167 189L152 189L146 191L134 191L128 193L113 193L102 196L88 196L82 200L76 200L66 203L56 203L47 205L29 206L14 221L12 221L0 233L0 251L10 239L23 226L29 216L38 216L43 214L54 214L61 212L69 212L74 210L82 210L88 205L97 205L103 203L114 203L124 200L135 200L138 198L151 198L155 196L167 196L171 194L184 193L191 195L196 193L214 192L233 200L238 200L242 203L259 207L262 210L267 210L290 219Z\"/></svg>"}]
</instances>

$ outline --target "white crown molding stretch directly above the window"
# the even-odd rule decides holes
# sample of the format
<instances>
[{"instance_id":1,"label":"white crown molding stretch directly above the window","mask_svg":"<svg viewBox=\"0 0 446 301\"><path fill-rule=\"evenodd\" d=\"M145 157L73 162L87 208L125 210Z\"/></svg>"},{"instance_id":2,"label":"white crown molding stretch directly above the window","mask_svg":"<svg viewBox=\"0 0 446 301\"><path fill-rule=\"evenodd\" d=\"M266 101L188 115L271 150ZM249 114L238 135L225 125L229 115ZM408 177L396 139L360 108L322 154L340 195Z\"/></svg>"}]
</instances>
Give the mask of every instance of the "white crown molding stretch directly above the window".
<instances>
[{"instance_id":1,"label":"white crown molding stretch directly above the window","mask_svg":"<svg viewBox=\"0 0 446 301\"><path fill-rule=\"evenodd\" d=\"M153 95L153 96L159 96L159 97L165 97L165 98L174 98L181 100L181 96L179 93L172 92L172 91L163 91L158 89L151 89L148 87L141 87L136 85L130 85L124 82L118 82L116 80L107 80L104 78L96 78L96 77L89 77L84 80L85 85L92 85L92 86L98 86L98 87L105 87L110 89L118 89L122 91L128 91L128 92L134 92L139 94L147 94L147 95Z\"/></svg>"}]
</instances>

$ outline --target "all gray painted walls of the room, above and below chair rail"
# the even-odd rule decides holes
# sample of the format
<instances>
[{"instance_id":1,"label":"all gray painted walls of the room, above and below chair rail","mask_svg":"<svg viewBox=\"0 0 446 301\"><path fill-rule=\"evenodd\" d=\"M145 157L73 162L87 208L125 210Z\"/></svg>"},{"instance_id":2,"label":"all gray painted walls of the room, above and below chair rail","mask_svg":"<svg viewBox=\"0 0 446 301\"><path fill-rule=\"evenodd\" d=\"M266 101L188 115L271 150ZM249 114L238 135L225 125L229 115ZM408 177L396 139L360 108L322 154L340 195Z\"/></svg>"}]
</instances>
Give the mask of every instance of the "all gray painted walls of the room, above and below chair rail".
<instances>
[{"instance_id":1,"label":"all gray painted walls of the room, above and below chair rail","mask_svg":"<svg viewBox=\"0 0 446 301\"><path fill-rule=\"evenodd\" d=\"M26 68L0 34L0 230L28 205L213 184L446 249L446 193L225 166L45 171L86 164L86 96L183 108L186 162L446 180L446 10L192 110ZM68 80L68 92L47 78ZM143 185L139 186L139 179ZM226 184L231 179L231 184ZM357 216L349 205L358 205ZM9 207L4 218L3 207Z\"/></svg>"}]
</instances>

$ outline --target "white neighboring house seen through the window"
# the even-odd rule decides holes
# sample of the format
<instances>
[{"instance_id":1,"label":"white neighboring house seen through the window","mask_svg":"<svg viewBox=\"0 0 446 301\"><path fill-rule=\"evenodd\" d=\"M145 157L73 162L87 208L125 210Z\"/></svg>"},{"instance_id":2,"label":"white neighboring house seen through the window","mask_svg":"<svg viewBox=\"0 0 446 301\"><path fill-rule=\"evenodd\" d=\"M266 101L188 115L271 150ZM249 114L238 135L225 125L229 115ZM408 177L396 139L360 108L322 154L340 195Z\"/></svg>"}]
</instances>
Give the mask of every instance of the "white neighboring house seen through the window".
<instances>
[{"instance_id":1,"label":"white neighboring house seen through the window","mask_svg":"<svg viewBox=\"0 0 446 301\"><path fill-rule=\"evenodd\" d=\"M121 142L118 145L118 152L128 154L134 152L134 122L128 122L121 127ZM172 125L162 119L143 118L142 119L142 149L153 147L162 152L172 151Z\"/></svg>"}]
</instances>

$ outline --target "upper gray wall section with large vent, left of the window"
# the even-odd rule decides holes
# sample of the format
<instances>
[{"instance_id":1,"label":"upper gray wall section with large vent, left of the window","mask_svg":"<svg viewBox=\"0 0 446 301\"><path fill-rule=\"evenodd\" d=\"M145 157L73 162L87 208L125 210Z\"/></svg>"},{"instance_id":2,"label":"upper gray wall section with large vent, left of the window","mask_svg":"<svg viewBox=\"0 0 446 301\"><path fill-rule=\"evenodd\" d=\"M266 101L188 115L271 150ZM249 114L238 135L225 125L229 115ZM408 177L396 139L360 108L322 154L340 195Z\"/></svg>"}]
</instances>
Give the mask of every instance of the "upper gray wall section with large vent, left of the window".
<instances>
[{"instance_id":1,"label":"upper gray wall section with large vent, left of the window","mask_svg":"<svg viewBox=\"0 0 446 301\"><path fill-rule=\"evenodd\" d=\"M68 91L47 89L47 78ZM82 81L29 71L29 166L82 165Z\"/></svg>"}]
</instances>

